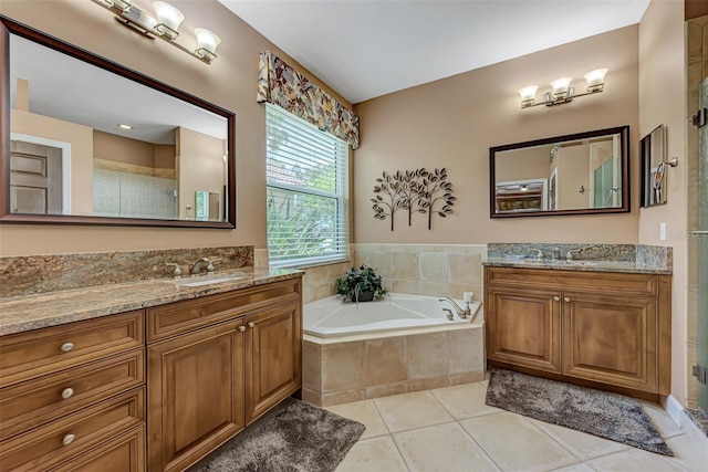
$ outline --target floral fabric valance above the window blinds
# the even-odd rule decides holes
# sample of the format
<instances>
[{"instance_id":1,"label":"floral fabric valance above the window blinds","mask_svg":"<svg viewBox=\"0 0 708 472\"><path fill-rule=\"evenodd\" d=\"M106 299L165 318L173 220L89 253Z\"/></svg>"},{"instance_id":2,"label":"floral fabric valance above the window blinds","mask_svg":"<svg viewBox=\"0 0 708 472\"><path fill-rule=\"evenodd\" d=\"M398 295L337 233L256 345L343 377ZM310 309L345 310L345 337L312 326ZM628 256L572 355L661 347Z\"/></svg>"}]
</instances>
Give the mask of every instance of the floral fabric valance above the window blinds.
<instances>
[{"instance_id":1,"label":"floral fabric valance above the window blinds","mask_svg":"<svg viewBox=\"0 0 708 472\"><path fill-rule=\"evenodd\" d=\"M358 147L358 116L271 51L258 66L258 103L272 103Z\"/></svg>"}]
</instances>

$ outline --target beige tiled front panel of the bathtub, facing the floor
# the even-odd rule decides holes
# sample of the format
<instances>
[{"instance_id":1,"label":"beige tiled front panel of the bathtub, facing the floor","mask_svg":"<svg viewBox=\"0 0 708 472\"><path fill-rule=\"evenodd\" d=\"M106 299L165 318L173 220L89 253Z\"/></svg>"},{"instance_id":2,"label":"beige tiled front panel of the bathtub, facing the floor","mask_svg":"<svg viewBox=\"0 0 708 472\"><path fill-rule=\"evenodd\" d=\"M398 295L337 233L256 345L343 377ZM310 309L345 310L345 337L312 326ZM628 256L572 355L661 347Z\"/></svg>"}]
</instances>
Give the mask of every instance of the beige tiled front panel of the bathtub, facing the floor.
<instances>
[{"instance_id":1,"label":"beige tiled front panel of the bathtub, facing the floor","mask_svg":"<svg viewBox=\"0 0 708 472\"><path fill-rule=\"evenodd\" d=\"M470 326L346 342L305 335L302 399L332 406L482 380L483 316L478 319Z\"/></svg>"}]
</instances>

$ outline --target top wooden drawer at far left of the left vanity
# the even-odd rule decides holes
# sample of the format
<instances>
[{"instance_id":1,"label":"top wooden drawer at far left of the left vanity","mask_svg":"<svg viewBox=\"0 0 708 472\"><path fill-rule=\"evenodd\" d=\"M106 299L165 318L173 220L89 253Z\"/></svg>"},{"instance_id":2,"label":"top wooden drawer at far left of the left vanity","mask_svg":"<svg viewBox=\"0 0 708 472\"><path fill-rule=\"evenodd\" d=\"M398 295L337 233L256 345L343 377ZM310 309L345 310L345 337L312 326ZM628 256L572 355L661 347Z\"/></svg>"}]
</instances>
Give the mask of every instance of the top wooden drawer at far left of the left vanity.
<instances>
[{"instance_id":1,"label":"top wooden drawer at far left of the left vanity","mask_svg":"<svg viewBox=\"0 0 708 472\"><path fill-rule=\"evenodd\" d=\"M143 317L136 311L0 337L0 385L142 347Z\"/></svg>"}]
</instances>

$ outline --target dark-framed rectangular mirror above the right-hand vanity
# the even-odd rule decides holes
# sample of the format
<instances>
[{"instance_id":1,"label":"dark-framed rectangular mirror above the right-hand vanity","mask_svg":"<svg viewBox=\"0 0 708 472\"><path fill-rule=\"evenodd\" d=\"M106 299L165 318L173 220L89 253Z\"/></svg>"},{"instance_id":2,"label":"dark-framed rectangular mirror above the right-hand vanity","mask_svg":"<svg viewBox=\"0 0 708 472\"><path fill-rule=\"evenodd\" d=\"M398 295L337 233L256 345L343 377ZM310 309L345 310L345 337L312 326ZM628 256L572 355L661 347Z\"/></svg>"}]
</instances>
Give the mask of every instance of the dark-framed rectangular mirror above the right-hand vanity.
<instances>
[{"instance_id":1,"label":"dark-framed rectangular mirror above the right-hand vanity","mask_svg":"<svg viewBox=\"0 0 708 472\"><path fill-rule=\"evenodd\" d=\"M491 218L629 211L628 126L489 148Z\"/></svg>"}]
</instances>

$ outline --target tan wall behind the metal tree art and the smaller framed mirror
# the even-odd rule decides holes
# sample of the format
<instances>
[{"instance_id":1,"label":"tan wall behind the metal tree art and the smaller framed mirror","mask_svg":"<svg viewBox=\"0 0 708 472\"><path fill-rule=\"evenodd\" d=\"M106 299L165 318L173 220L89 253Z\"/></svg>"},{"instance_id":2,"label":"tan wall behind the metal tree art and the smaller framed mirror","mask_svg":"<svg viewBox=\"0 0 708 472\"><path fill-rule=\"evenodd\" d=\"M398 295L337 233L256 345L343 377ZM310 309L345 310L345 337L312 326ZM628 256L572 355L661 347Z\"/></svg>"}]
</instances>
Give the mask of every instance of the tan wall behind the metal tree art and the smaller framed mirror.
<instances>
[{"instance_id":1,"label":"tan wall behind the metal tree art and the smaller framed mirror","mask_svg":"<svg viewBox=\"0 0 708 472\"><path fill-rule=\"evenodd\" d=\"M465 243L489 241L637 240L636 198L631 213L594 217L489 218L489 147L537 138L629 125L637 150L638 27L627 27L357 104L362 147L354 156L356 243ZM582 88L583 74L608 67L602 94L570 104L521 109L517 91L571 75ZM403 211L395 231L375 220L368 201L383 170L446 167L457 202L455 213L425 216L409 228ZM637 160L632 159L633 189ZM612 231L607 229L612 228Z\"/></svg>"}]
</instances>

